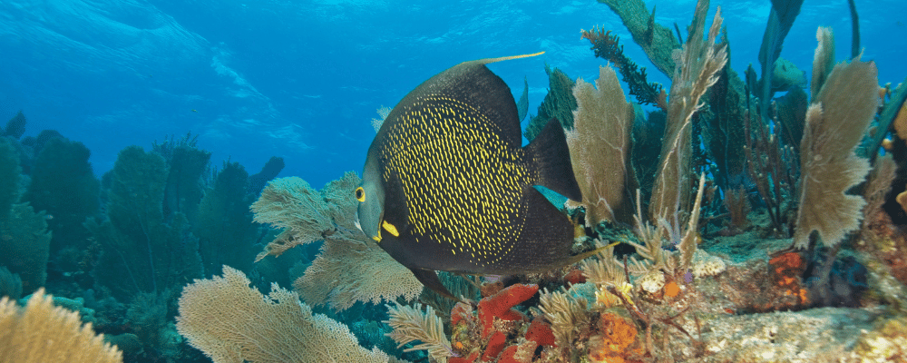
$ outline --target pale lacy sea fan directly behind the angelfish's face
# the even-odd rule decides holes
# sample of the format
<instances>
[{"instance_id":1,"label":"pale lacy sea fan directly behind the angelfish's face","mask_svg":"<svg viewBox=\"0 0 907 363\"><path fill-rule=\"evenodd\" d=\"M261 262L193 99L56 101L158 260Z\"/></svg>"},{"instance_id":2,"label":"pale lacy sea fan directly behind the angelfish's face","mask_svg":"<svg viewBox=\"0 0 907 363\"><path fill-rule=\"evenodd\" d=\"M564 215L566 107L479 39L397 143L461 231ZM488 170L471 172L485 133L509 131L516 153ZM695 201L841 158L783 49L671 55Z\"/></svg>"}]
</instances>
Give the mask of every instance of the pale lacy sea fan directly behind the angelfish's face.
<instances>
[{"instance_id":1,"label":"pale lacy sea fan directly behind the angelfish's face","mask_svg":"<svg viewBox=\"0 0 907 363\"><path fill-rule=\"evenodd\" d=\"M284 229L256 260L325 240L318 257L293 283L309 304L327 303L332 309L343 310L356 301L377 304L397 296L414 299L422 291L422 284L410 270L356 228L353 191L359 182L356 173L347 172L315 191L300 178L280 178L268 183L252 204L255 221Z\"/></svg>"}]
</instances>

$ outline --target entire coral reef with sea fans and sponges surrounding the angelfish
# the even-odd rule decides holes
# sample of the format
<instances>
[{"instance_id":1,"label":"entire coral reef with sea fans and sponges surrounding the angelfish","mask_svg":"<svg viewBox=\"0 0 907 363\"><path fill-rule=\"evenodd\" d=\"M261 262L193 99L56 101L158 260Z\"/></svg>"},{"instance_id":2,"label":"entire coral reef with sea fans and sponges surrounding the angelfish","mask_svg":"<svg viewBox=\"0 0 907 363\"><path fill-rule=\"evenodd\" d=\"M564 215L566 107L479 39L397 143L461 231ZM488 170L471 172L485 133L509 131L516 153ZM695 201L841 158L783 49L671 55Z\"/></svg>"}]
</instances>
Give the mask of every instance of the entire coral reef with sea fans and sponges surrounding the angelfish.
<instances>
[{"instance_id":1,"label":"entire coral reef with sea fans and sponges surrounding the angelfish","mask_svg":"<svg viewBox=\"0 0 907 363\"><path fill-rule=\"evenodd\" d=\"M275 179L277 157L251 176L218 170L187 134L122 150L98 182L81 143L23 138L18 113L0 131L0 361L48 360L9 357L76 336L137 363L902 360L907 82L880 87L859 57L836 64L819 28L805 84L780 53L801 0L772 1L760 70L743 79L707 0L686 34L641 0L600 2L671 84L650 83L600 26L581 33L613 64L594 84L546 66L525 135L552 118L566 130L584 197L564 211L572 250L595 256L440 272L448 299L357 228L354 172L317 189ZM528 82L516 107L522 119Z\"/></svg>"}]
</instances>

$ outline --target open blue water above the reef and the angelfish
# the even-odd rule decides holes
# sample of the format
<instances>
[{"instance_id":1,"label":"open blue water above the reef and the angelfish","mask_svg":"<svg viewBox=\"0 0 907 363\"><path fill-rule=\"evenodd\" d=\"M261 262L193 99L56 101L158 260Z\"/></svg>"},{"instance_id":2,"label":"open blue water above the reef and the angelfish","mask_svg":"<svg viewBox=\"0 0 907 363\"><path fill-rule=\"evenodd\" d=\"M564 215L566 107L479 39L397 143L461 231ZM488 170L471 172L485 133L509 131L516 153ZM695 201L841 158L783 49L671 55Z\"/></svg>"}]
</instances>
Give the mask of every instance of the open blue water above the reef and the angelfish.
<instances>
[{"instance_id":1,"label":"open blue water above the reef and the angelfish","mask_svg":"<svg viewBox=\"0 0 907 363\"><path fill-rule=\"evenodd\" d=\"M695 0L651 1L656 21L681 29ZM758 64L770 2L721 5L731 64ZM907 75L907 2L857 0L863 59L880 83ZM0 121L23 110L26 135L55 129L85 143L99 175L123 147L199 134L219 165L250 173L272 155L281 175L315 186L361 172L375 109L393 106L428 77L467 60L545 51L493 64L522 89L530 112L547 92L544 64L594 79L598 65L580 29L621 35L626 53L668 83L606 5L594 1L0 1ZM831 26L839 61L851 49L846 0L807 0L782 56L807 74L817 26ZM686 34L684 34L686 37Z\"/></svg>"}]
</instances>

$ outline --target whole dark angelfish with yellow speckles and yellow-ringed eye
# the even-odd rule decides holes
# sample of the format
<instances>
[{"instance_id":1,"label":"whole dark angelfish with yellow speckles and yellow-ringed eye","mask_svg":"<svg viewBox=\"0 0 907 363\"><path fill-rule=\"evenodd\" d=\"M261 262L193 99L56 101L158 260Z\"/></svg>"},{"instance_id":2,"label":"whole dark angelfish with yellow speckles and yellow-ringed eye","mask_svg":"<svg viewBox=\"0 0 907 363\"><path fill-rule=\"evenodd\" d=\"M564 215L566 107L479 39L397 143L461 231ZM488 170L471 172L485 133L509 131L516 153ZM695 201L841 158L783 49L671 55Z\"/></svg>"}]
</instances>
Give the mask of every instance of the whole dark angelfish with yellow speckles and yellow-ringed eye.
<instances>
[{"instance_id":1,"label":"whole dark angelfish with yellow speckles and yellow-ringed eye","mask_svg":"<svg viewBox=\"0 0 907 363\"><path fill-rule=\"evenodd\" d=\"M590 255L571 256L571 221L532 187L582 200L561 124L551 120L522 147L510 88L485 66L533 55L434 75L387 115L368 149L360 229L445 296L435 270L532 273Z\"/></svg>"}]
</instances>

